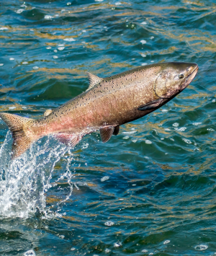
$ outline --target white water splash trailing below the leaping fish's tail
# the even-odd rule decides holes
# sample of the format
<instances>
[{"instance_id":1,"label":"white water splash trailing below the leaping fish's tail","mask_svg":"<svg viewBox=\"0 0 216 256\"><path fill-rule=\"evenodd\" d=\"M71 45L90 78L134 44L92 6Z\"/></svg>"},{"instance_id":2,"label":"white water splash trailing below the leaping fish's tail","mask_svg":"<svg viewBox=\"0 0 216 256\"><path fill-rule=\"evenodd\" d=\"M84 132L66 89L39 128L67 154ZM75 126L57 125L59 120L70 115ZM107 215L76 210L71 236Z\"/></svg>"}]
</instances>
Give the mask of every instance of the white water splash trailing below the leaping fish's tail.
<instances>
[{"instance_id":1,"label":"white water splash trailing below the leaping fish's tail","mask_svg":"<svg viewBox=\"0 0 216 256\"><path fill-rule=\"evenodd\" d=\"M73 191L73 173L70 170L73 154L67 146L47 137L37 141L30 150L11 161L12 135L6 134L0 149L0 217L28 218L40 212L43 218L60 215L60 205L70 198ZM58 173L55 164L66 166L65 173ZM61 168L62 169L62 168ZM54 177L53 177L54 176ZM47 206L50 190L67 182L67 190L58 197L58 203Z\"/></svg>"}]
</instances>

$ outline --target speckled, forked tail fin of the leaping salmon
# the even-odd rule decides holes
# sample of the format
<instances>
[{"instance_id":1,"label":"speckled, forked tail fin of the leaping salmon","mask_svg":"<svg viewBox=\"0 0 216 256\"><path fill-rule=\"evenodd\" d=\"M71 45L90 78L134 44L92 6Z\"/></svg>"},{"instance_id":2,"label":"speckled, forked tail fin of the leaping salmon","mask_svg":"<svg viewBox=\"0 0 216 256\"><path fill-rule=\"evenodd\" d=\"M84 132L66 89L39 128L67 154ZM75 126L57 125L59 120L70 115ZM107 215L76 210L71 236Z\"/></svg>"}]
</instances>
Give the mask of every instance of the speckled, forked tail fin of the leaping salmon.
<instances>
[{"instance_id":1,"label":"speckled, forked tail fin of the leaping salmon","mask_svg":"<svg viewBox=\"0 0 216 256\"><path fill-rule=\"evenodd\" d=\"M14 139L12 144L12 159L14 159L29 149L33 142L33 138L28 136L25 131L35 120L4 112L0 112L0 118L4 120L10 131L12 131L12 137Z\"/></svg>"}]
</instances>

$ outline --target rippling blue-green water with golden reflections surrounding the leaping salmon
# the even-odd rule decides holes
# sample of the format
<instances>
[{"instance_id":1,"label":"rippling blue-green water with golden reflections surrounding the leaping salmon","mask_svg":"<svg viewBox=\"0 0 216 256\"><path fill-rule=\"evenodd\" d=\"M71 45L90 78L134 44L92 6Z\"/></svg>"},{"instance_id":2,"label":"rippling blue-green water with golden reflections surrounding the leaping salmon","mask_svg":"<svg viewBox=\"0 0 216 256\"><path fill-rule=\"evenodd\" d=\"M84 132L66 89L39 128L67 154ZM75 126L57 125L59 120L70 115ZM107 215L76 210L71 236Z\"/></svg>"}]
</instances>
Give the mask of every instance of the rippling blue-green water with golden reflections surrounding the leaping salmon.
<instances>
[{"instance_id":1,"label":"rippling blue-green water with golden reflections surrounding the leaping salmon","mask_svg":"<svg viewBox=\"0 0 216 256\"><path fill-rule=\"evenodd\" d=\"M99 76L199 64L156 112L75 149L45 137L10 162L0 121L0 255L215 255L215 1L0 2L0 111L29 118Z\"/></svg>"}]
</instances>

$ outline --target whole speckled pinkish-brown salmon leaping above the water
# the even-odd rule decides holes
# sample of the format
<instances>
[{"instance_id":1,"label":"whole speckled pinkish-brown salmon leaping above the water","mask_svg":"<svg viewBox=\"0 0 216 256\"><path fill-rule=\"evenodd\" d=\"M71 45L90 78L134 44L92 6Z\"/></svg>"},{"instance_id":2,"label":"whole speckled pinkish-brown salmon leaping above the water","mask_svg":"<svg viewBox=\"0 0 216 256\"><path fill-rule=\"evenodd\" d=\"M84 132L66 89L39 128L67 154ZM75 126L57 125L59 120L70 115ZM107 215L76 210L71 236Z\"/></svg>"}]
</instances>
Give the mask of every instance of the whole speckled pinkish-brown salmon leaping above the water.
<instances>
[{"instance_id":1,"label":"whole speckled pinkish-brown salmon leaping above the water","mask_svg":"<svg viewBox=\"0 0 216 256\"><path fill-rule=\"evenodd\" d=\"M32 142L53 134L76 146L87 133L99 130L103 142L117 135L120 125L157 110L176 97L194 79L196 63L168 62L140 66L107 78L88 73L89 88L44 118L23 118L5 112L0 117L12 131L12 158Z\"/></svg>"}]
</instances>

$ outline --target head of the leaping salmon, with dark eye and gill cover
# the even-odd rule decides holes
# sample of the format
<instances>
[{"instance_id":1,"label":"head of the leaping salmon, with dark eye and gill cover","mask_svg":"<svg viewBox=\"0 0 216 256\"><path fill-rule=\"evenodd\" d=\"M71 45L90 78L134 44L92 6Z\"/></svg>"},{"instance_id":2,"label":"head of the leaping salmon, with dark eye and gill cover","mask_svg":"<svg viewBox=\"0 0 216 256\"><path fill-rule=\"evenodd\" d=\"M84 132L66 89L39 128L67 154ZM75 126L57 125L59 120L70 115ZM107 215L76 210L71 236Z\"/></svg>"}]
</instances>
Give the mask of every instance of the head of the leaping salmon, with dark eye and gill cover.
<instances>
[{"instance_id":1,"label":"head of the leaping salmon, with dark eye and gill cover","mask_svg":"<svg viewBox=\"0 0 216 256\"><path fill-rule=\"evenodd\" d=\"M157 97L169 99L184 90L194 79L198 71L196 63L161 63L154 84Z\"/></svg>"}]
</instances>

